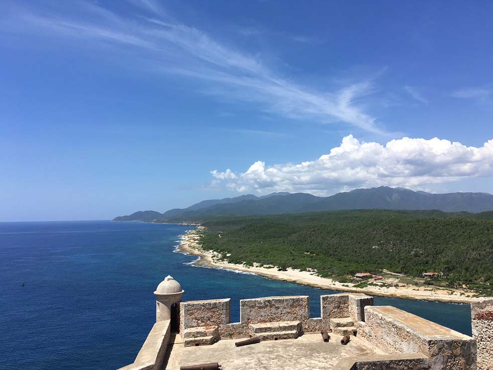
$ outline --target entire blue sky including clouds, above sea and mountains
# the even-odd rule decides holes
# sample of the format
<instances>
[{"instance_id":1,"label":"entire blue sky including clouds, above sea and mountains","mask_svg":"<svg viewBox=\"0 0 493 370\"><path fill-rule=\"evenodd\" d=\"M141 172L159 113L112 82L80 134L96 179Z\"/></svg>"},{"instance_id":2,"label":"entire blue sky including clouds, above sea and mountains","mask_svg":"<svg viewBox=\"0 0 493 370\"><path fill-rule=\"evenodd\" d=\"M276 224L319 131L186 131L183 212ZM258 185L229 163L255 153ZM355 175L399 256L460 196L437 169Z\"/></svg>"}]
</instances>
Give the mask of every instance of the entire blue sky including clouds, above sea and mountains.
<instances>
[{"instance_id":1,"label":"entire blue sky including clouds, above sea and mountains","mask_svg":"<svg viewBox=\"0 0 493 370\"><path fill-rule=\"evenodd\" d=\"M0 220L380 185L491 193L490 2L0 9Z\"/></svg>"}]
</instances>

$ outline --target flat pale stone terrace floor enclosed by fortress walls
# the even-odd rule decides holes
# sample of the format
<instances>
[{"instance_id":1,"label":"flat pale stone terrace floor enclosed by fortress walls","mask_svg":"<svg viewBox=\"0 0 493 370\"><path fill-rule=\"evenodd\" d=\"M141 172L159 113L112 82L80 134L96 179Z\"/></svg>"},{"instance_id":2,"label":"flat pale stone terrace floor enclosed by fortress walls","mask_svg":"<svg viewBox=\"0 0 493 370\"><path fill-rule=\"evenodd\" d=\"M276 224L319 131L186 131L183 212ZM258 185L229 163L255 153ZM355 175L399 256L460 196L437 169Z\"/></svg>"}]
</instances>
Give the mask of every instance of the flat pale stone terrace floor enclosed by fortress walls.
<instances>
[{"instance_id":1,"label":"flat pale stone terrace floor enclosed by fortress walls","mask_svg":"<svg viewBox=\"0 0 493 370\"><path fill-rule=\"evenodd\" d=\"M177 335L166 370L180 366L219 362L223 370L332 370L343 357L383 354L368 342L351 337L347 345L342 336L331 333L331 340L323 342L321 335L304 334L297 339L269 340L235 347L241 339L220 340L213 345L185 347Z\"/></svg>"}]
</instances>

